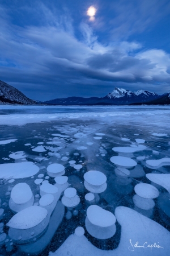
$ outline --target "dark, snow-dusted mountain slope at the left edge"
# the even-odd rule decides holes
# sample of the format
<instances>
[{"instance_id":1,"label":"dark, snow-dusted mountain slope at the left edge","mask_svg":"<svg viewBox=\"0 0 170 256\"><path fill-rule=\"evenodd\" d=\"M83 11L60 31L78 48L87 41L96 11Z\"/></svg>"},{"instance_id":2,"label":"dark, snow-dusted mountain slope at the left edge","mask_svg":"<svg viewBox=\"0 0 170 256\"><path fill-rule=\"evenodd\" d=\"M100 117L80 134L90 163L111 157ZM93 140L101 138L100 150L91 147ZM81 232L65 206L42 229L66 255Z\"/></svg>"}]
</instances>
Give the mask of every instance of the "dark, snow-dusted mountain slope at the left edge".
<instances>
[{"instance_id":1,"label":"dark, snow-dusted mountain slope at the left edge","mask_svg":"<svg viewBox=\"0 0 170 256\"><path fill-rule=\"evenodd\" d=\"M10 104L36 104L13 86L0 80L0 103Z\"/></svg>"}]
</instances>

